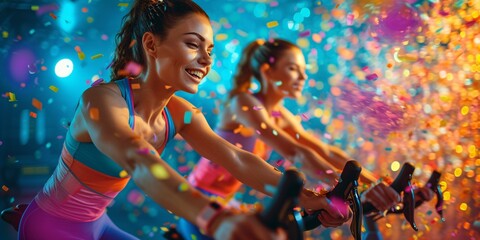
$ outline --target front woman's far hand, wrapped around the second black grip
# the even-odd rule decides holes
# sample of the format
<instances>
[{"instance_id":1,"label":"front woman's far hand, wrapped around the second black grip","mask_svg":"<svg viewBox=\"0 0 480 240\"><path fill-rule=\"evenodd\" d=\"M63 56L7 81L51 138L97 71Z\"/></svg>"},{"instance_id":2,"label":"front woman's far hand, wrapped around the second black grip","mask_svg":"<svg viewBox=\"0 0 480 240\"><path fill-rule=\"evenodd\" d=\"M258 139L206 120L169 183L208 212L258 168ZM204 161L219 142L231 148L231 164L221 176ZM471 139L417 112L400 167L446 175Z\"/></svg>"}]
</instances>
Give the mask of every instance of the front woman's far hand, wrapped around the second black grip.
<instances>
[{"instance_id":1,"label":"front woman's far hand, wrapped around the second black grip","mask_svg":"<svg viewBox=\"0 0 480 240\"><path fill-rule=\"evenodd\" d=\"M328 199L325 194L304 189L300 194L300 204L308 213L318 210L318 219L325 227L338 227L352 217L352 211L342 199Z\"/></svg>"}]
</instances>

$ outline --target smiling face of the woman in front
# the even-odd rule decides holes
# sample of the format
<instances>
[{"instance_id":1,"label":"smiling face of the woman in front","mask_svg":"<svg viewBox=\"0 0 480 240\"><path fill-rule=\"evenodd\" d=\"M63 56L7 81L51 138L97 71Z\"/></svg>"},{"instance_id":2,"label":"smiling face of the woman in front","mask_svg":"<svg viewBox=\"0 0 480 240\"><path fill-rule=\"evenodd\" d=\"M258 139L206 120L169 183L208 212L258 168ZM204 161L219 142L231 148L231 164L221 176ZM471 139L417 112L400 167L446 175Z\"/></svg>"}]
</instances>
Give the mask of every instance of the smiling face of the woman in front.
<instances>
[{"instance_id":1,"label":"smiling face of the woman in front","mask_svg":"<svg viewBox=\"0 0 480 240\"><path fill-rule=\"evenodd\" d=\"M158 41L155 71L168 88L195 93L212 64L213 30L209 20L190 14Z\"/></svg>"}]
</instances>

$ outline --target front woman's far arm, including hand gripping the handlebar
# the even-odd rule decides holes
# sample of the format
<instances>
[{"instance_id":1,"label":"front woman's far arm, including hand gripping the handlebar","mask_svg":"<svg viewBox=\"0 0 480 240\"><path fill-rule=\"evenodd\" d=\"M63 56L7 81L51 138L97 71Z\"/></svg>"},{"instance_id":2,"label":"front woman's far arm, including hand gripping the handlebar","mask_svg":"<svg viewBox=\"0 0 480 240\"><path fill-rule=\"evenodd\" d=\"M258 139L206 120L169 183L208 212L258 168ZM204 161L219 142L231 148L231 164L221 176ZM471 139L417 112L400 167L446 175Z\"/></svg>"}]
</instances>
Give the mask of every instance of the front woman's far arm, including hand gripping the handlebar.
<instances>
[{"instance_id":1,"label":"front woman's far arm, including hand gripping the handlebar","mask_svg":"<svg viewBox=\"0 0 480 240\"><path fill-rule=\"evenodd\" d=\"M281 178L278 170L257 155L244 151L218 136L210 128L203 114L187 101L176 98L171 100L171 104L175 104L171 109L180 116L184 116L185 111L192 111L191 121L185 124L179 133L200 155L223 166L246 185L267 195L273 194L268 186L278 185ZM330 205L324 195L313 194L306 189L300 196L300 203L308 209L326 210L328 214L321 215L320 219L328 227L339 226L350 218L344 209L339 210Z\"/></svg>"}]
</instances>

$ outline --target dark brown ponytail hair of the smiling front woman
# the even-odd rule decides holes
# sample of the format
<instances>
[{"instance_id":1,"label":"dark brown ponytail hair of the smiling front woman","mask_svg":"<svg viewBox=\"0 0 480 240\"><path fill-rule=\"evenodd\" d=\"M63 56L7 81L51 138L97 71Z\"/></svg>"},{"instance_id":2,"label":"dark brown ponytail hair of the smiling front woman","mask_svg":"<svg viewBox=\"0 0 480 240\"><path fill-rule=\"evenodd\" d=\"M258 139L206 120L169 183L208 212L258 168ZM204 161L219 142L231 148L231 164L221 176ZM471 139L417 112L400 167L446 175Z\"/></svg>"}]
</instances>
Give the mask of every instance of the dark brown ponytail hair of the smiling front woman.
<instances>
[{"instance_id":1,"label":"dark brown ponytail hair of the smiling front woman","mask_svg":"<svg viewBox=\"0 0 480 240\"><path fill-rule=\"evenodd\" d=\"M141 44L143 34L151 32L161 39L178 21L197 13L210 20L207 13L191 0L135 0L132 9L122 18L122 28L115 36L116 49L111 63L111 79L132 77L124 70L129 62L145 66Z\"/></svg>"}]
</instances>

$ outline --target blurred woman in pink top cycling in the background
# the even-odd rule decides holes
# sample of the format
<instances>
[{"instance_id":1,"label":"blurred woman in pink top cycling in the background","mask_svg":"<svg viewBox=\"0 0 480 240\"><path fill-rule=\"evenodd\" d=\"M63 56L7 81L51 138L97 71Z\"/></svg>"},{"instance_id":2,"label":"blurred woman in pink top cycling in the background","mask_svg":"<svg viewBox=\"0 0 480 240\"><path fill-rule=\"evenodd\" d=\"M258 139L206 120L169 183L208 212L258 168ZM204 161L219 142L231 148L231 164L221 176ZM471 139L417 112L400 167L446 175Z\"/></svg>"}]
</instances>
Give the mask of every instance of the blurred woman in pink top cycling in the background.
<instances>
[{"instance_id":1,"label":"blurred woman in pink top cycling in the background","mask_svg":"<svg viewBox=\"0 0 480 240\"><path fill-rule=\"evenodd\" d=\"M300 165L311 177L331 183L338 176L326 172L338 172L350 158L341 149L322 143L308 133L282 104L285 98L301 96L307 79L305 71L305 57L295 44L282 39L251 42L242 52L233 88L215 131L263 159L268 158L270 149L265 147L268 146L296 166ZM260 84L256 93L250 91L253 79ZM377 182L368 170L363 169L361 173L364 183ZM203 193L226 200L241 186L227 169L205 157L200 159L188 180ZM430 193L430 198L432 196ZM364 192L362 201L369 201L384 211L398 203L400 196L379 183ZM195 226L184 220L180 220L179 229L185 236L199 234Z\"/></svg>"}]
</instances>

